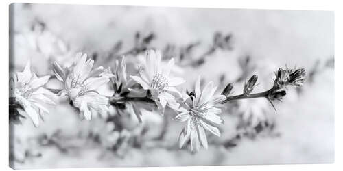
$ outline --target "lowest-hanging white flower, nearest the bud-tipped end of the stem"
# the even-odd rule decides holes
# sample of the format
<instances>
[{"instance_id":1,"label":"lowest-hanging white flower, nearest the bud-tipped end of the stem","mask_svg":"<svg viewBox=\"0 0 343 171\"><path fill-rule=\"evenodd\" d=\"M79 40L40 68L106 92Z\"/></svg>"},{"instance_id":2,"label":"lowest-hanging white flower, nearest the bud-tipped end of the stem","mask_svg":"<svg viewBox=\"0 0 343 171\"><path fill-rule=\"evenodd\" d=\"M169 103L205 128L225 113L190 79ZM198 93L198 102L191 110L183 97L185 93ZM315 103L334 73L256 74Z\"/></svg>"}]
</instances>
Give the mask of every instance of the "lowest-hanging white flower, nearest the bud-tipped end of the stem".
<instances>
[{"instance_id":1,"label":"lowest-hanging white flower, nearest the bud-tipped end of the stem","mask_svg":"<svg viewBox=\"0 0 343 171\"><path fill-rule=\"evenodd\" d=\"M224 101L224 95L214 95L217 87L213 86L213 82L209 82L204 89L200 90L200 77L196 82L195 93L184 94L182 107L180 107L175 120L178 122L186 122L187 126L182 129L179 137L179 147L191 139L191 151L198 151L200 142L204 148L207 148L207 138L205 129L214 135L220 137L220 131L215 127L215 124L224 124L224 120L217 116L222 112L221 109L215 107L218 103Z\"/></svg>"}]
</instances>

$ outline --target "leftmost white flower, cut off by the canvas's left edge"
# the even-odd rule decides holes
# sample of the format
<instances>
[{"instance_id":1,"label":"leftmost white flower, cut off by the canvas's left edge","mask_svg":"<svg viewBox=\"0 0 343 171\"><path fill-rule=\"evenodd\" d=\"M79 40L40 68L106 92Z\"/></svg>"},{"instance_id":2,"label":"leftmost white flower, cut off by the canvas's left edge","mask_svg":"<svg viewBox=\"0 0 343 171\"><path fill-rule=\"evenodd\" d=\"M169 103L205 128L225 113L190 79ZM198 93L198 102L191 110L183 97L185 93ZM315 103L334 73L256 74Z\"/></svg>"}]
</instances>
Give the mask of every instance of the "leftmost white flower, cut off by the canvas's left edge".
<instances>
[{"instance_id":1,"label":"leftmost white flower, cut off by the canvas's left edge","mask_svg":"<svg viewBox=\"0 0 343 171\"><path fill-rule=\"evenodd\" d=\"M18 72L10 78L10 98L21 106L16 110L21 115L27 114L36 127L39 126L39 117L43 118L44 114L49 114L42 103L55 104L48 97L53 94L42 87L49 78L49 75L37 77L32 73L30 62L27 62L23 72Z\"/></svg>"}]
</instances>

